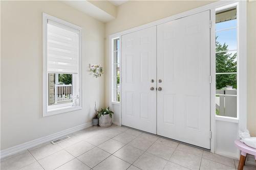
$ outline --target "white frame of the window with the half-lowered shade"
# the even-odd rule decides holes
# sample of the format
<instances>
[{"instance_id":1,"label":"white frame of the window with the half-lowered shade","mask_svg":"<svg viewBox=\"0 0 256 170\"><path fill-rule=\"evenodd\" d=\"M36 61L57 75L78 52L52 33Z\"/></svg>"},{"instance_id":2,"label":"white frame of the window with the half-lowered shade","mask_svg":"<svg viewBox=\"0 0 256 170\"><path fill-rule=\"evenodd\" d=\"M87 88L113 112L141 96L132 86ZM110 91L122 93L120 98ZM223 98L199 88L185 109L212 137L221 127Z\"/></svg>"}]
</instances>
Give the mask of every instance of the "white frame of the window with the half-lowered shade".
<instances>
[{"instance_id":1,"label":"white frame of the window with the half-lowered shade","mask_svg":"<svg viewBox=\"0 0 256 170\"><path fill-rule=\"evenodd\" d=\"M70 103L63 103L58 105L48 106L48 61L47 61L47 20L51 19L55 22L61 23L61 25L68 26L70 28L76 29L79 31L79 56L78 56L78 74L72 76L72 88L73 88L73 95L76 95L76 102L77 105L73 102ZM43 75L42 75L42 87L43 87L43 94L42 94L42 116L50 116L54 114L66 113L71 112L74 110L82 109L81 105L81 27L73 25L70 22L65 20L59 19L57 17L48 15L46 13L42 13L42 49L43 49ZM74 100L74 99L73 99Z\"/></svg>"}]
</instances>

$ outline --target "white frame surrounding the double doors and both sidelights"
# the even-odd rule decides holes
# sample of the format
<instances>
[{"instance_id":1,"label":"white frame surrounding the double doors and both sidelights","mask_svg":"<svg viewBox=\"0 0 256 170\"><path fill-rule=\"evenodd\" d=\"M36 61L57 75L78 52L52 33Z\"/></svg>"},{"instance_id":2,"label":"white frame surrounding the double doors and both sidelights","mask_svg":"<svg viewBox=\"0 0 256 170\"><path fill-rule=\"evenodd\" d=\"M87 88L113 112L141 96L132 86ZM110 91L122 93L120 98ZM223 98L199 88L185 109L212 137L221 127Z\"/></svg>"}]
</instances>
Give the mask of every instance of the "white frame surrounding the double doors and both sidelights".
<instances>
[{"instance_id":1,"label":"white frame surrounding the double doors and both sidelights","mask_svg":"<svg viewBox=\"0 0 256 170\"><path fill-rule=\"evenodd\" d=\"M203 11L210 10L210 21L209 25L211 25L210 28L210 76L211 76L211 83L210 83L210 131L211 131L211 138L210 138L210 151L212 153L215 153L215 143L216 143L216 133L215 133L215 124L216 124L216 115L215 115L215 13L216 13L216 8L221 8L223 6L228 6L232 4L237 4L238 5L238 17L239 23L238 23L238 28L239 28L239 34L238 34L238 55L239 57L239 65L238 65L238 117L236 118L236 122L239 124L239 128L241 129L246 129L247 128L247 83L246 83L246 1L219 1L215 3L211 3L202 7L198 7L195 9L188 10L186 12L182 12L179 14L175 14L173 16L169 16L160 20L156 20L150 23L146 23L145 25L138 26L132 29L128 29L125 31L121 31L115 34L112 34L109 36L109 57L110 57L110 69L109 69L109 78L110 80L110 91L112 92L112 39L119 37L120 38L120 51L121 49L121 42L122 42L122 35L124 34L129 34L135 31L139 31L145 28L150 28L153 26L160 25L161 23L169 22L172 20L176 20L182 17L186 17L189 15L193 15L196 13L200 13ZM122 57L120 53L120 82L122 82L122 68L121 68L121 63L122 63ZM122 85L120 83L120 91L122 90ZM120 103L112 102L112 95L110 95L109 98L110 106L112 105L119 105L119 125L122 125L122 113L121 113L121 92L120 92ZM234 122L234 119L232 118L225 118L226 122Z\"/></svg>"}]
</instances>

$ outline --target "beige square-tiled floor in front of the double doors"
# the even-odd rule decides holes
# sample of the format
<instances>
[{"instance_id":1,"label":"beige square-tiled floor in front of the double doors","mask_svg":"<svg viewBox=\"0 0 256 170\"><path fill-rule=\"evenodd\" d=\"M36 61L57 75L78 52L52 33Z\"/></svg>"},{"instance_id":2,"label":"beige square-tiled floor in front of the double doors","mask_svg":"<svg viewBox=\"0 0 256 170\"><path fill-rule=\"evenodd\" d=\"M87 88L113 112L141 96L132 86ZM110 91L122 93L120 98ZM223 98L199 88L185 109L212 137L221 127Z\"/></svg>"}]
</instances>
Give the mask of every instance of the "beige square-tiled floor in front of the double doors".
<instances>
[{"instance_id":1,"label":"beige square-tiled floor in front of the double doors","mask_svg":"<svg viewBox=\"0 0 256 170\"><path fill-rule=\"evenodd\" d=\"M235 169L238 160L141 131L91 127L1 160L1 169ZM256 169L246 165L245 170Z\"/></svg>"}]
</instances>

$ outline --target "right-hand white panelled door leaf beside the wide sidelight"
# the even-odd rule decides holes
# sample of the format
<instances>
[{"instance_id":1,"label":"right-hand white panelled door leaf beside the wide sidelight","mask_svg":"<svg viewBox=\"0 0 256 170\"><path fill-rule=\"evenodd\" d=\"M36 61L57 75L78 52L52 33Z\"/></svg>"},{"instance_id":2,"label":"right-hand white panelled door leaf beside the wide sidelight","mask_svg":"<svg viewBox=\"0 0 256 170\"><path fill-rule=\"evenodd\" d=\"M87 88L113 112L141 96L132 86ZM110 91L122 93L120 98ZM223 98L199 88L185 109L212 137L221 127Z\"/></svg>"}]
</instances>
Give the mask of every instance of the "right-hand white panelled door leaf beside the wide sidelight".
<instances>
[{"instance_id":1,"label":"right-hand white panelled door leaf beside the wide sidelight","mask_svg":"<svg viewBox=\"0 0 256 170\"><path fill-rule=\"evenodd\" d=\"M209 11L157 28L157 134L210 149Z\"/></svg>"}]
</instances>

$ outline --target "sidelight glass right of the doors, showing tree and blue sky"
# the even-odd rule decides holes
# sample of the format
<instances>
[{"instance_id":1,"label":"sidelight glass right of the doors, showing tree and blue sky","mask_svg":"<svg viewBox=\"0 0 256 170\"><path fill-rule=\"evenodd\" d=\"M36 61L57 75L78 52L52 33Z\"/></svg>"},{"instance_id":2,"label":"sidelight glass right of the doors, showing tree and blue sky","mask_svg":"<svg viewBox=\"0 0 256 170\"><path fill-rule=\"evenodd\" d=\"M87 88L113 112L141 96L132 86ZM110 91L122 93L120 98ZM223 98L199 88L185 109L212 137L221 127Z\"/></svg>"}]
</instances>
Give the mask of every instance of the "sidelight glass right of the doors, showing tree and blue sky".
<instances>
[{"instance_id":1,"label":"sidelight glass right of the doors, showing tree and blue sky","mask_svg":"<svg viewBox=\"0 0 256 170\"><path fill-rule=\"evenodd\" d=\"M216 115L237 117L237 8L216 12Z\"/></svg>"}]
</instances>

